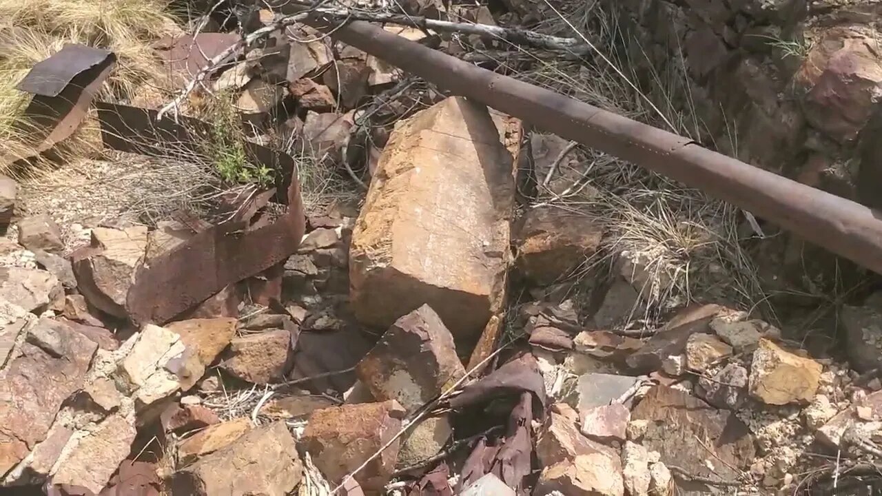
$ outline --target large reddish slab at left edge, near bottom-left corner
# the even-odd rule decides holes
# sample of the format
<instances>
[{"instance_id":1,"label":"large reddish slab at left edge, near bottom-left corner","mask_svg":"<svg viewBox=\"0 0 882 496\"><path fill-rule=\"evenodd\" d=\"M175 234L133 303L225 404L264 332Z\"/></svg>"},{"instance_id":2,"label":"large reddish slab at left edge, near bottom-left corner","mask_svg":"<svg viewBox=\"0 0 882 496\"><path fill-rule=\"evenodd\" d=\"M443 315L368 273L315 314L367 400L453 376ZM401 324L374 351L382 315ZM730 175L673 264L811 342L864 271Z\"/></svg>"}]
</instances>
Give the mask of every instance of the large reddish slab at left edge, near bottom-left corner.
<instances>
[{"instance_id":1,"label":"large reddish slab at left edge, near bottom-left corner","mask_svg":"<svg viewBox=\"0 0 882 496\"><path fill-rule=\"evenodd\" d=\"M62 402L83 386L98 348L83 334L40 319L0 380L0 475L46 438Z\"/></svg>"}]
</instances>

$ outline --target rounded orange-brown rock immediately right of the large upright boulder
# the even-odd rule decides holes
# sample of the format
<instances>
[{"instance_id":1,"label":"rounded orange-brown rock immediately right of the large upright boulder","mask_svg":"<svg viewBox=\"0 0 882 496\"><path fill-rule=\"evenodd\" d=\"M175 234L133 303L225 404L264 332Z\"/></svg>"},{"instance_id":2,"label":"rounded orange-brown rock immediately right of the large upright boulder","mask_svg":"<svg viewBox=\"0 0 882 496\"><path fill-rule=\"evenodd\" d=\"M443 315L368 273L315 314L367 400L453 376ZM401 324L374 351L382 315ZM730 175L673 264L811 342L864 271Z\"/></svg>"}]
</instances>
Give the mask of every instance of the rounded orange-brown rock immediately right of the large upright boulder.
<instances>
[{"instance_id":1,"label":"rounded orange-brown rock immediately right of the large upright boulder","mask_svg":"<svg viewBox=\"0 0 882 496\"><path fill-rule=\"evenodd\" d=\"M558 207L530 208L515 229L515 264L536 284L572 275L597 252L603 235L592 217Z\"/></svg>"}]
</instances>

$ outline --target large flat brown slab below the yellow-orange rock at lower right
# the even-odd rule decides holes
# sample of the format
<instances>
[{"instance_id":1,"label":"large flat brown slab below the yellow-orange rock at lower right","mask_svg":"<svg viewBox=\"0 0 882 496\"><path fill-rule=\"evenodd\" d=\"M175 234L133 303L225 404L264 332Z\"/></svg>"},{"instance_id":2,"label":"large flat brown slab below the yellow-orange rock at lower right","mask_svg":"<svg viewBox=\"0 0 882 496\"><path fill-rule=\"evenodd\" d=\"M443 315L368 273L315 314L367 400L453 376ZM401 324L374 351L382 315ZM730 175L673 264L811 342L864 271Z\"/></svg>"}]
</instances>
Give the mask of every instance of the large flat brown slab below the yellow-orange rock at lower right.
<instances>
[{"instance_id":1,"label":"large flat brown slab below the yellow-orange rock at lower right","mask_svg":"<svg viewBox=\"0 0 882 496\"><path fill-rule=\"evenodd\" d=\"M756 455L751 433L735 415L671 387L650 389L631 416L648 421L644 447L697 477L734 480Z\"/></svg>"}]
</instances>

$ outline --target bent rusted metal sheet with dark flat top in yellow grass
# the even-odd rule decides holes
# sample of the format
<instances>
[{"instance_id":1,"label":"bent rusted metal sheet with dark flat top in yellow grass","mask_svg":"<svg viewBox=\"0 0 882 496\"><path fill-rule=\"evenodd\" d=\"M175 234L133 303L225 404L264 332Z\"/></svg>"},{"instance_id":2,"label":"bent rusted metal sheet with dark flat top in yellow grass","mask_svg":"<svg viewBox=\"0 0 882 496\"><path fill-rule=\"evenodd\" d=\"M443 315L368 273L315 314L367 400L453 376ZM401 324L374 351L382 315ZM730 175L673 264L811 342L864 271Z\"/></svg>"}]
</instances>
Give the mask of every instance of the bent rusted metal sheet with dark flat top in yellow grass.
<instances>
[{"instance_id":1,"label":"bent rusted metal sheet with dark flat top in yellow grass","mask_svg":"<svg viewBox=\"0 0 882 496\"><path fill-rule=\"evenodd\" d=\"M67 139L86 117L89 105L116 63L116 56L104 49L67 43L27 73L16 86L34 94L25 109L19 129L30 139L29 146L40 154ZM13 162L31 157L6 157Z\"/></svg>"}]
</instances>

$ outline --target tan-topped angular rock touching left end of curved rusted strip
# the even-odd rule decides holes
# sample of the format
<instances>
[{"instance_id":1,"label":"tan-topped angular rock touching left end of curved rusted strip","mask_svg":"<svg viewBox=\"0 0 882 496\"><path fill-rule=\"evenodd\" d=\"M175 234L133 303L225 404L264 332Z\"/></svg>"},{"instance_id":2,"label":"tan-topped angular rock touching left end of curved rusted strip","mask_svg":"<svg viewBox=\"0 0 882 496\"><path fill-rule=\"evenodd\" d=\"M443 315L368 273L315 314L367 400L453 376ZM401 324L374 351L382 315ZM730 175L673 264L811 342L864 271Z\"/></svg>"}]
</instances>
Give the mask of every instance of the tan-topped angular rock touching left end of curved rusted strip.
<instances>
[{"instance_id":1,"label":"tan-topped angular rock touching left end of curved rusted strip","mask_svg":"<svg viewBox=\"0 0 882 496\"><path fill-rule=\"evenodd\" d=\"M90 247L71 254L73 273L86 300L101 312L125 318L125 298L147 245L147 228L92 229Z\"/></svg>"}]
</instances>

